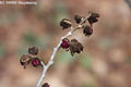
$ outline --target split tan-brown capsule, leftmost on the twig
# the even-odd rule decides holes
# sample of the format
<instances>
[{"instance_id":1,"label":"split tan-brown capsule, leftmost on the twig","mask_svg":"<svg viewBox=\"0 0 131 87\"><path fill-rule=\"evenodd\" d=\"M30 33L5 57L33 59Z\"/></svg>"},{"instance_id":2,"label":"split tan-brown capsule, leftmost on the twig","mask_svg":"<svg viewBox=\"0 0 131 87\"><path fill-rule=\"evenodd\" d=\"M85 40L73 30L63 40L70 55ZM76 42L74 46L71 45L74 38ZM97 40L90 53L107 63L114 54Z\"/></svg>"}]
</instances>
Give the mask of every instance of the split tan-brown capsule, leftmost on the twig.
<instances>
[{"instance_id":1,"label":"split tan-brown capsule, leftmost on the twig","mask_svg":"<svg viewBox=\"0 0 131 87\"><path fill-rule=\"evenodd\" d=\"M32 59L31 54L23 54L20 59L21 65L23 65L24 69L26 69L26 65L29 63L31 59Z\"/></svg>"}]
</instances>

